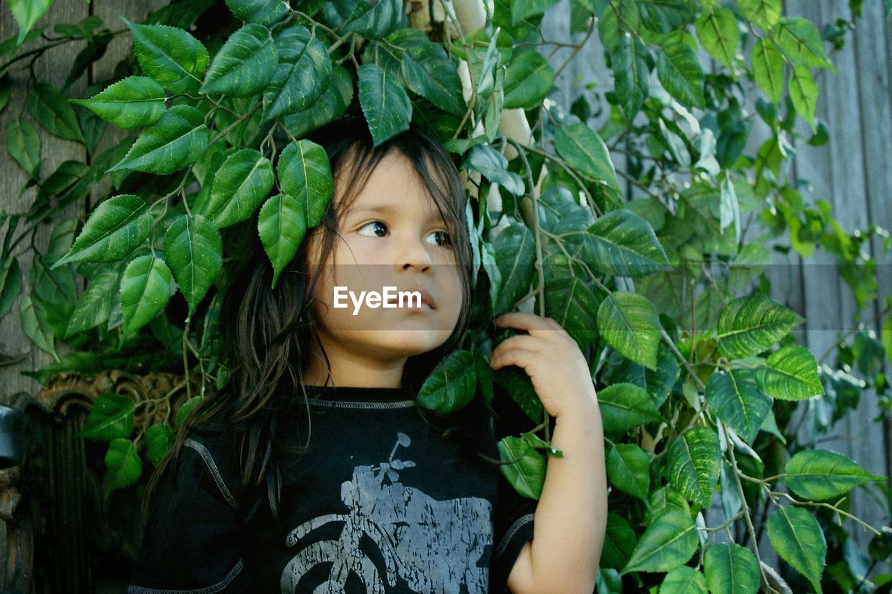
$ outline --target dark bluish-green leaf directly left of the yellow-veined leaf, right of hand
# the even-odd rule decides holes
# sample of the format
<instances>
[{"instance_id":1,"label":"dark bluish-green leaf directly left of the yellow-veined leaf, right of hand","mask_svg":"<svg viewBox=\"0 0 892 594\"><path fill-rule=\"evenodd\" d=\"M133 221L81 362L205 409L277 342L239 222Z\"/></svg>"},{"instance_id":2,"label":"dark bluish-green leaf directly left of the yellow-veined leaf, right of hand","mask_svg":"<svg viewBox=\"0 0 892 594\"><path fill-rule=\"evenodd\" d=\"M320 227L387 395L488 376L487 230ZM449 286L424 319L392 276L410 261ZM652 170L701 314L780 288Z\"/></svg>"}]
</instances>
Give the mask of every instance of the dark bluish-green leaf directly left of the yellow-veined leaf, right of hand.
<instances>
[{"instance_id":1,"label":"dark bluish-green leaf directly left of the yellow-veined leaf, right of hand","mask_svg":"<svg viewBox=\"0 0 892 594\"><path fill-rule=\"evenodd\" d=\"M747 444L772 409L772 398L759 390L752 369L716 371L706 382L706 403Z\"/></svg>"}]
</instances>

